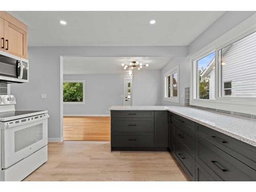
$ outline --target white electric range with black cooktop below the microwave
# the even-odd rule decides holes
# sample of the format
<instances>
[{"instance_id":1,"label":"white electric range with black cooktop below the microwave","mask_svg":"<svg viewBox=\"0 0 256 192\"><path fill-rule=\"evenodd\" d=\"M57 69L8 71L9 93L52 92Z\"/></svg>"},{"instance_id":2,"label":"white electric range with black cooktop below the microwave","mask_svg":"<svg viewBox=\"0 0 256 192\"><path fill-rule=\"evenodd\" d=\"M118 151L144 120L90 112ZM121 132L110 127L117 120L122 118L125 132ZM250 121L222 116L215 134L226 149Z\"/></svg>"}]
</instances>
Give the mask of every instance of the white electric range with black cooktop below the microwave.
<instances>
[{"instance_id":1,"label":"white electric range with black cooktop below the microwave","mask_svg":"<svg viewBox=\"0 0 256 192\"><path fill-rule=\"evenodd\" d=\"M0 95L0 181L21 181L47 161L48 112L15 111L13 95Z\"/></svg>"}]
</instances>

